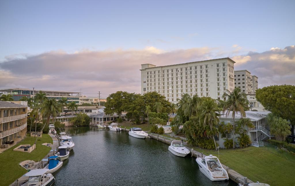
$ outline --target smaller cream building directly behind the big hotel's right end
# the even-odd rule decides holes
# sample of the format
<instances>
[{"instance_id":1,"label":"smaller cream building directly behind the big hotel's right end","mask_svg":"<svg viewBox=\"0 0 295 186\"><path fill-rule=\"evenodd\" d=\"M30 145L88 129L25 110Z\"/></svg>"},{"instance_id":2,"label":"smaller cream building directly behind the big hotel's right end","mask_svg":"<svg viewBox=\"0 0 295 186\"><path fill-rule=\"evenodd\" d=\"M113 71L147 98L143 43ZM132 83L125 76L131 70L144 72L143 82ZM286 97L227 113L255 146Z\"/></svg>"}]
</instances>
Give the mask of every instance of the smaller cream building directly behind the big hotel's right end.
<instances>
[{"instance_id":1,"label":"smaller cream building directly behind the big hotel's right end","mask_svg":"<svg viewBox=\"0 0 295 186\"><path fill-rule=\"evenodd\" d=\"M258 89L258 77L248 70L235 70L235 88L240 88L246 94L254 94Z\"/></svg>"}]
</instances>

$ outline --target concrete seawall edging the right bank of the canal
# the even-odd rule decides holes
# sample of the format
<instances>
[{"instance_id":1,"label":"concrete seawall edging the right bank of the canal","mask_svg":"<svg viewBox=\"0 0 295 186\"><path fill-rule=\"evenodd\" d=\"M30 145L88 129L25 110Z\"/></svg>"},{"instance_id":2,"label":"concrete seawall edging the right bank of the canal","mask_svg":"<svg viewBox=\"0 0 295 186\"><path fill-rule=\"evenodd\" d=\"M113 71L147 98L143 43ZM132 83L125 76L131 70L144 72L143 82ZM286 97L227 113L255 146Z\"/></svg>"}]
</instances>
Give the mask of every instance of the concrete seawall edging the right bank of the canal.
<instances>
[{"instance_id":1,"label":"concrete seawall edging the right bank of the canal","mask_svg":"<svg viewBox=\"0 0 295 186\"><path fill-rule=\"evenodd\" d=\"M122 131L129 131L129 129L126 129L126 127L121 128L121 129L122 129ZM149 136L151 139L156 139L156 140L166 143L168 145L171 144L171 138L161 136L158 134L149 134ZM172 141L173 141L173 139L172 139ZM186 148L190 150L191 155L193 157L197 158L197 157L201 157L201 156L203 156L203 157L206 156L205 154L195 151L194 149L192 149L190 147L186 146ZM243 175L240 175L238 172L234 171L233 169L230 169L226 165L222 164L222 167L227 170L227 173L228 173L230 179L233 180L234 182L236 182L237 184L242 183L242 185L246 185L247 183L253 183L253 181L249 180L247 177L244 177Z\"/></svg>"}]
</instances>

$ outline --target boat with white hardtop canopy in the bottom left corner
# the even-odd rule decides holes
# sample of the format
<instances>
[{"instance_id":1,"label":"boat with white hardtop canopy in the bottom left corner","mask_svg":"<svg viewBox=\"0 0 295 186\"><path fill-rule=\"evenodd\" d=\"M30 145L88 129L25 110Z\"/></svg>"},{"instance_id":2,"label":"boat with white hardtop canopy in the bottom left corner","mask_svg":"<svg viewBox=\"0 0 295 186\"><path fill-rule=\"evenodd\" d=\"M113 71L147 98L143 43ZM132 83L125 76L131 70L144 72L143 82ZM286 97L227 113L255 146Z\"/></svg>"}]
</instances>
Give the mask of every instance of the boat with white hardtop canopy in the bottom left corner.
<instances>
[{"instance_id":1,"label":"boat with white hardtop canopy in the bottom left corner","mask_svg":"<svg viewBox=\"0 0 295 186\"><path fill-rule=\"evenodd\" d=\"M21 186L50 186L53 185L55 178L52 174L48 173L49 169L34 169L27 172L24 176L28 176L29 180Z\"/></svg>"}]
</instances>

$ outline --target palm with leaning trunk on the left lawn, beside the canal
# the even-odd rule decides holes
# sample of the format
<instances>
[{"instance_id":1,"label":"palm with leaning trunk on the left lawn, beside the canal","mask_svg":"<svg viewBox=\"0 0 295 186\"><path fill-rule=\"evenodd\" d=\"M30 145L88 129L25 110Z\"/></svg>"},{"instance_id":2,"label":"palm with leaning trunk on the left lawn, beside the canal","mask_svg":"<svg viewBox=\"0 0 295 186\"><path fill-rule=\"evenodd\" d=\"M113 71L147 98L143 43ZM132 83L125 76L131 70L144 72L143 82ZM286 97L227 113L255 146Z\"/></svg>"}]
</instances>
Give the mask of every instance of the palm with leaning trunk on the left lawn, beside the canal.
<instances>
[{"instance_id":1,"label":"palm with leaning trunk on the left lawn, beside the canal","mask_svg":"<svg viewBox=\"0 0 295 186\"><path fill-rule=\"evenodd\" d=\"M53 118L57 116L57 113L60 112L60 107L58 106L58 102L55 99L47 99L41 105L41 114L42 118L46 118L46 123L43 125L41 131L43 131L45 125L49 125L50 117ZM40 132L41 132L40 131ZM37 142L39 135L36 138L35 144Z\"/></svg>"}]
</instances>

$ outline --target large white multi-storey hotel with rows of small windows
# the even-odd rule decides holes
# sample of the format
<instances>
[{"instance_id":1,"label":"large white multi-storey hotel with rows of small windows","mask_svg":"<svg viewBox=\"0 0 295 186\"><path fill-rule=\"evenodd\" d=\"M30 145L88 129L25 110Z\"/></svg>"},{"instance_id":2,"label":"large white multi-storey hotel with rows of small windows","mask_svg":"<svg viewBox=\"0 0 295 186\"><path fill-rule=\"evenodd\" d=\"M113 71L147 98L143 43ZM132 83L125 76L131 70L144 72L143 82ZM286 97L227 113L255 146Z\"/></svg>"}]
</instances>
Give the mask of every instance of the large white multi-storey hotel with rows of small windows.
<instances>
[{"instance_id":1,"label":"large white multi-storey hotel with rows of small windows","mask_svg":"<svg viewBox=\"0 0 295 186\"><path fill-rule=\"evenodd\" d=\"M235 61L229 57L176 65L141 65L141 93L156 91L177 103L184 93L220 99L235 88Z\"/></svg>"}]
</instances>

